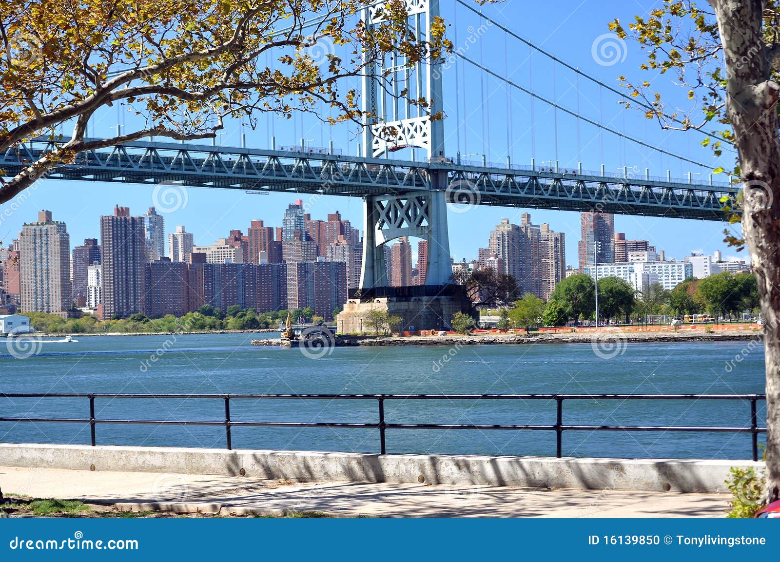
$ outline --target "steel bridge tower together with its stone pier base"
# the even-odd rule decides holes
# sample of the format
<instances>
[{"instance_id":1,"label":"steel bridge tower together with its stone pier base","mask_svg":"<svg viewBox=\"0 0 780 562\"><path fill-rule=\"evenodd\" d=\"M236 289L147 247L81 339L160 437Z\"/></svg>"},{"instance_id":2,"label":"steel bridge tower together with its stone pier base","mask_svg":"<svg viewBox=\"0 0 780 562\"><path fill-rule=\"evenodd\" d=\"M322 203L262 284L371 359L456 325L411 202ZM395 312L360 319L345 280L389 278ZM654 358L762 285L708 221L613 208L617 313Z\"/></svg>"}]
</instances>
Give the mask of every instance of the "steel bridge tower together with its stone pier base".
<instances>
[{"instance_id":1,"label":"steel bridge tower together with its stone pier base","mask_svg":"<svg viewBox=\"0 0 780 562\"><path fill-rule=\"evenodd\" d=\"M427 41L431 21L439 15L438 0L406 0L410 29ZM369 26L381 22L381 8L366 9ZM373 58L373 57L371 57ZM428 161L444 158L444 122L431 120L443 111L440 60L413 67L399 55L385 55L371 63L363 77L363 156L387 158L400 149L411 149ZM399 96L406 90L406 95ZM429 108L408 100L425 97ZM388 130L389 129L389 130ZM452 285L452 264L447 230L447 171L431 169L430 189L402 195L370 195L363 199L363 263L360 288L350 292L339 314L341 333L367 330L371 310L380 309L402 319L401 330L443 329L452 315L470 309L463 288ZM389 287L385 244L402 236L427 241L425 285Z\"/></svg>"}]
</instances>

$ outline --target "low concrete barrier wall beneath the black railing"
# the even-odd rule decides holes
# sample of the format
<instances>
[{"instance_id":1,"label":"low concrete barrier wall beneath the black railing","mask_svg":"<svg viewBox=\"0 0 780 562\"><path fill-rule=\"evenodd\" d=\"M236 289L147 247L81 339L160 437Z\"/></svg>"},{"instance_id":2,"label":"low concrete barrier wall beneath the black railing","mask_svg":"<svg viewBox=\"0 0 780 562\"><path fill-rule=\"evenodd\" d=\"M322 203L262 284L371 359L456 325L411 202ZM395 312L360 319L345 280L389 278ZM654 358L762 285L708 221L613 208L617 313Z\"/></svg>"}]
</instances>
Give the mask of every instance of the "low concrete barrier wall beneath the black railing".
<instances>
[{"instance_id":1,"label":"low concrete barrier wall beneath the black railing","mask_svg":"<svg viewBox=\"0 0 780 562\"><path fill-rule=\"evenodd\" d=\"M590 490L725 492L721 460L488 457L317 451L228 451L179 447L0 444L0 465L73 470L247 475L297 482L427 482Z\"/></svg>"}]
</instances>

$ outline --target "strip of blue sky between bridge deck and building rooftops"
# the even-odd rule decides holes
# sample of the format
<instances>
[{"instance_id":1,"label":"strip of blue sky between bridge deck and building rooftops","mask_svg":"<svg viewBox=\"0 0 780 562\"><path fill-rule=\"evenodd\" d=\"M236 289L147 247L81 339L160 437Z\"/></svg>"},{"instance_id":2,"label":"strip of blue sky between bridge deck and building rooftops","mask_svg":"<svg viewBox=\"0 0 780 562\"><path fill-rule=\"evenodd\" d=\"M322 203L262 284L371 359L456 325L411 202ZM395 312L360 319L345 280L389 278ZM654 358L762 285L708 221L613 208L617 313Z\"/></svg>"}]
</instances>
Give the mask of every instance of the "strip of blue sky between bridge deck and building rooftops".
<instances>
[{"instance_id":1,"label":"strip of blue sky between bridge deck and building rooftops","mask_svg":"<svg viewBox=\"0 0 780 562\"><path fill-rule=\"evenodd\" d=\"M48 185L52 183L48 181ZM44 180L43 184L46 185L47 181ZM94 186L94 184L91 184ZM88 187L88 186L87 186ZM0 242L2 246L8 246L12 239L16 239L18 232L21 231L23 224L33 221L37 211L44 208L49 208L45 202L40 203L41 207L34 207L39 200L43 200L40 197L43 187L31 191L29 199L25 201L23 206L16 207L16 210L10 213L4 213L0 206ZM91 190L91 189L90 189ZM188 188L189 192L205 193L205 189L193 189ZM105 192L105 190L100 190ZM151 195L151 194L150 194ZM208 194L211 195L211 194ZM229 235L231 230L239 228L245 234L249 229L252 221L264 221L266 227L270 228L282 228L282 216L284 209L293 203L300 196L290 196L288 194L271 193L268 196L247 196L241 193L243 196L241 200L254 201L257 199L269 199L276 200L275 205L264 206L262 211L246 210L236 203L229 209L229 212L224 216L218 217L218 221L211 224L204 224L204 221L200 218L200 214L193 213L192 197L190 196L190 204L182 209L177 209L172 212L166 212L159 207L155 207L161 217L165 219L165 253L163 255L168 256L170 246L168 242L169 235L175 232L177 226L184 226L186 232L193 234L193 242L197 246L207 246L213 244L216 240L225 238ZM80 198L74 198L80 199ZM71 249L76 246L80 246L84 239L99 238L99 224L97 219L94 222L85 220L88 216L88 212L99 214L107 213L111 210L115 204L120 206L130 207L137 209L137 216L144 216L144 213L140 210L145 210L148 207L154 207L152 203L154 201L139 197L137 194L128 196L123 193L119 194L102 193L102 200L110 202L105 207L97 207L97 203L90 203L88 207L78 207L77 201L71 201L65 205L59 206L60 210L55 207L51 207L60 221L68 224L68 232L71 239ZM140 203L134 204L133 200L141 200ZM211 197L209 197L211 199ZM303 200L304 207L307 207L307 200ZM345 204L346 203L346 204ZM361 235L363 233L363 208L362 201L359 199L353 200L352 198L344 197L317 197L314 204L307 207L307 213L317 215L318 217L324 217L327 214L333 214L339 212L342 214L342 219L345 221L351 221L353 224L359 225L358 230ZM30 212L27 213L27 210ZM321 209L321 212L320 212ZM512 224L521 224L522 215L524 213L531 213L534 217L534 222L537 224L548 223L555 232L562 232L566 235L566 239L569 244L566 246L566 265L571 267L578 267L579 254L576 242L580 241L580 213L574 211L562 211L562 210L544 210L544 209L511 209L500 208L498 210L492 208L471 208L467 213L449 212L448 220L452 224L450 228L450 244L452 249L452 257L456 261L471 260L477 257L478 250L483 247L486 242L481 239L477 239L473 236L473 221L469 220L469 217L474 217L480 224L478 228L483 229L487 237L490 229L495 224L498 224L502 218L508 218ZM260 216L260 215L264 216ZM214 217L213 207L206 214L208 217ZM245 219L246 217L246 219ZM491 221L490 217L496 217L495 221ZM651 246L654 246L660 252L665 251L667 258L675 258L677 260L683 260L685 256L690 256L692 253L703 253L707 255L713 255L716 251L721 251L725 256L726 261L731 260L746 260L747 254L745 252L737 253L736 249L729 248L723 242L723 229L725 223L710 223L707 221L693 221L683 220L675 218L658 218L658 217L633 217L629 215L615 214L615 232L624 232L628 239L647 239ZM269 220L269 218L271 220ZM194 226L193 226L194 225ZM464 231L464 228L467 229ZM676 228L672 228L675 227ZM632 228L633 227L633 228ZM685 240L686 246L679 242ZM412 248L413 256L417 256L417 244L413 244Z\"/></svg>"}]
</instances>

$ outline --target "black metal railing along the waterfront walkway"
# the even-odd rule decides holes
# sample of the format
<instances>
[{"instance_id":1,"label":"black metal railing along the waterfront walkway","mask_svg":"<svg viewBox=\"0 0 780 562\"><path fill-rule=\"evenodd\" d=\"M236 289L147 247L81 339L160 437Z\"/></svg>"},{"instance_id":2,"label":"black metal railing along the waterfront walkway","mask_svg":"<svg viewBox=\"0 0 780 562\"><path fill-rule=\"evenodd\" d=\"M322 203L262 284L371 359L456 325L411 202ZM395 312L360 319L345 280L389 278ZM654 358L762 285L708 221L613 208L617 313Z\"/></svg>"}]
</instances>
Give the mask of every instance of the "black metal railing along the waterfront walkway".
<instances>
[{"instance_id":1,"label":"black metal railing along the waterfront walkway","mask_svg":"<svg viewBox=\"0 0 780 562\"><path fill-rule=\"evenodd\" d=\"M564 431L682 431L698 433L750 433L753 445L753 461L758 460L758 435L767 433L766 427L758 426L757 401L766 400L766 394L37 394L37 393L0 393L0 398L86 398L89 401L89 418L32 418L0 416L0 422L34 423L83 423L90 426L90 444L97 444L95 428L97 424L144 424L158 426L222 426L225 428L225 441L232 449L231 429L233 427L328 427L378 429L381 454L387 453L385 432L388 429L479 429L479 430L541 430L555 431L555 456L562 457ZM225 405L225 419L222 420L172 420L172 419L101 419L95 415L97 398L180 398L195 400L222 400ZM235 400L358 400L376 401L378 404L377 422L255 422L231 419L230 402ZM385 420L386 401L410 400L547 400L555 401L556 421L554 425L530 424L463 424L463 423L388 423ZM750 426L590 426L566 425L563 423L563 402L573 400L740 400L750 402Z\"/></svg>"}]
</instances>

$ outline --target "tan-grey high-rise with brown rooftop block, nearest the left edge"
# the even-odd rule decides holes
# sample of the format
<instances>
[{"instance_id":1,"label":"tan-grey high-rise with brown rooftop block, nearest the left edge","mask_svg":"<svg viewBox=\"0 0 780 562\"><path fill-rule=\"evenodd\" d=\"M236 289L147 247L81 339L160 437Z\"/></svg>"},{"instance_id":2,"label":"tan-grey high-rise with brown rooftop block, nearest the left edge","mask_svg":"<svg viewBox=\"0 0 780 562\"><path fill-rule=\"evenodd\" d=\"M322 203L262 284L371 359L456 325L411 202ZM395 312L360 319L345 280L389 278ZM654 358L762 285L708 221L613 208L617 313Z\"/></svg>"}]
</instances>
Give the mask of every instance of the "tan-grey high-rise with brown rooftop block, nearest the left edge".
<instances>
[{"instance_id":1,"label":"tan-grey high-rise with brown rooftop block, nearest the left edge","mask_svg":"<svg viewBox=\"0 0 780 562\"><path fill-rule=\"evenodd\" d=\"M72 305L66 224L41 210L37 222L23 225L19 243L22 310L65 315Z\"/></svg>"}]
</instances>

